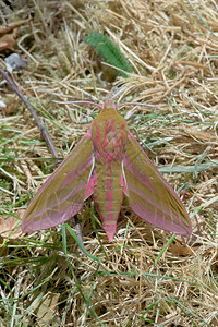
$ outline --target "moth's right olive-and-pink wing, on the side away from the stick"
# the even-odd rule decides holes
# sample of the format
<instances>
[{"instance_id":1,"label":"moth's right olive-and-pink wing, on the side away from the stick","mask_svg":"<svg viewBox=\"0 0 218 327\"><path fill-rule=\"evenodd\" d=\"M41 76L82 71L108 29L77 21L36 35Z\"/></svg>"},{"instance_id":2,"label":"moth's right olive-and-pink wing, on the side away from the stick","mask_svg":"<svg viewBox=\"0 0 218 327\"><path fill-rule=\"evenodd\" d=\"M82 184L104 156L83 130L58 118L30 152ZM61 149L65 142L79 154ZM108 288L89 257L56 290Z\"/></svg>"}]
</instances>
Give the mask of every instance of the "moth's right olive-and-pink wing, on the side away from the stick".
<instances>
[{"instance_id":1,"label":"moth's right olive-and-pink wing, on the side away from the stick","mask_svg":"<svg viewBox=\"0 0 218 327\"><path fill-rule=\"evenodd\" d=\"M189 237L191 220L174 191L129 132L123 178L132 210L164 230Z\"/></svg>"}]
</instances>

